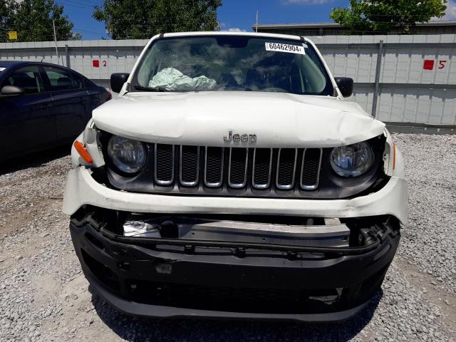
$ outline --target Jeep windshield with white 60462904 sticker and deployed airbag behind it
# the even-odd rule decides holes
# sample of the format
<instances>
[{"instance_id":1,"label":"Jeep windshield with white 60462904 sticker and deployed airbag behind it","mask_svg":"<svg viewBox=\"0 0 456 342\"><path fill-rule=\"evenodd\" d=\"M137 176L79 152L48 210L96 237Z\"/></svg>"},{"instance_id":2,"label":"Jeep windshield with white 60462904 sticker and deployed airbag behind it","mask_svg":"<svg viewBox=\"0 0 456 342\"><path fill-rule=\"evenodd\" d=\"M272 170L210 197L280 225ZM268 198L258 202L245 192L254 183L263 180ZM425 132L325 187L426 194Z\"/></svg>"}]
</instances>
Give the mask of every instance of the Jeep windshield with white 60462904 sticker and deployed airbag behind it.
<instances>
[{"instance_id":1,"label":"Jeep windshield with white 60462904 sticker and deployed airbag behind it","mask_svg":"<svg viewBox=\"0 0 456 342\"><path fill-rule=\"evenodd\" d=\"M270 91L333 95L328 73L304 41L252 36L160 38L133 76L133 91Z\"/></svg>"}]
</instances>

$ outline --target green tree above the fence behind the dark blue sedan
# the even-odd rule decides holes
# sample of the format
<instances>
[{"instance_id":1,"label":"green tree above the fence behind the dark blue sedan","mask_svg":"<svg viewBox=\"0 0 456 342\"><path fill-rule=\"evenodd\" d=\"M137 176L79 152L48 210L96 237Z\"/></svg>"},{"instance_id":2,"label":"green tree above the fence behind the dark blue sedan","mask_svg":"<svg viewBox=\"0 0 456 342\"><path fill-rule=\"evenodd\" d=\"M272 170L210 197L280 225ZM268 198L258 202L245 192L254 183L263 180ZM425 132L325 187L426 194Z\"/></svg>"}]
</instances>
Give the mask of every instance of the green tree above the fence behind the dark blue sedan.
<instances>
[{"instance_id":1,"label":"green tree above the fence behind the dark blue sedan","mask_svg":"<svg viewBox=\"0 0 456 342\"><path fill-rule=\"evenodd\" d=\"M53 41L53 20L58 41L81 38L53 0L0 0L0 41L8 41L7 31L17 31L17 41Z\"/></svg>"}]
</instances>

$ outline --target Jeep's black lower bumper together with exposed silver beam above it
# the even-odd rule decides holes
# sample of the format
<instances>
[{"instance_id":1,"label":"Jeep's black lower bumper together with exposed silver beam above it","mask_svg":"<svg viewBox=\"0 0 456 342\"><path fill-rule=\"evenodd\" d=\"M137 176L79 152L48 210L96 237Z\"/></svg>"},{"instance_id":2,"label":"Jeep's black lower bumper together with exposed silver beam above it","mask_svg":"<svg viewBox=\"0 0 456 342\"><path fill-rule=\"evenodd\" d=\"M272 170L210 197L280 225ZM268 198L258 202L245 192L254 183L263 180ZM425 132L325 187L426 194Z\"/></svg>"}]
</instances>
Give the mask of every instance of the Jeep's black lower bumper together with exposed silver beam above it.
<instances>
[{"instance_id":1,"label":"Jeep's black lower bumper together with exposed silver beam above it","mask_svg":"<svg viewBox=\"0 0 456 342\"><path fill-rule=\"evenodd\" d=\"M131 236L131 222L150 227ZM341 321L380 289L399 222L320 223L147 214L132 221L131 214L83 207L70 228L86 277L126 314Z\"/></svg>"}]
</instances>

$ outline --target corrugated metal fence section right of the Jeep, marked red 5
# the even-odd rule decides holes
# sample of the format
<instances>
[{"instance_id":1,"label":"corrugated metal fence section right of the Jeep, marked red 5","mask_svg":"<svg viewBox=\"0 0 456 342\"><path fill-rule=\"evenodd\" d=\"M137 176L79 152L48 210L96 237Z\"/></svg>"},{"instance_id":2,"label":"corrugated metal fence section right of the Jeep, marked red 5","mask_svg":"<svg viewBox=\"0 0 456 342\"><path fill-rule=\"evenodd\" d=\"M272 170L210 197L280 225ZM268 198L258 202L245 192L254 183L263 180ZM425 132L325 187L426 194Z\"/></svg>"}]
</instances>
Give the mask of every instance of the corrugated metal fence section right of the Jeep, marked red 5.
<instances>
[{"instance_id":1,"label":"corrugated metal fence section right of the Jeep, marked red 5","mask_svg":"<svg viewBox=\"0 0 456 342\"><path fill-rule=\"evenodd\" d=\"M314 37L354 100L394 123L456 124L456 35ZM376 104L375 104L376 102Z\"/></svg>"}]
</instances>

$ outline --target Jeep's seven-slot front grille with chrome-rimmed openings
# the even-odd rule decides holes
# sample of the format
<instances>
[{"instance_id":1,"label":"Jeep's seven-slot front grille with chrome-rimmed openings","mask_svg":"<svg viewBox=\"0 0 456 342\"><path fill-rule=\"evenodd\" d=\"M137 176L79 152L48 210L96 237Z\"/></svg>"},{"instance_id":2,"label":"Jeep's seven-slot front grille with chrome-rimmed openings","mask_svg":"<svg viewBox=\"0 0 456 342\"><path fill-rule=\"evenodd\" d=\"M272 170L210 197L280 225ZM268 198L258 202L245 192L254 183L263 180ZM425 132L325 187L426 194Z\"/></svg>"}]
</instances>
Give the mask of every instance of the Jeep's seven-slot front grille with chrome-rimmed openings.
<instances>
[{"instance_id":1,"label":"Jeep's seven-slot front grille with chrome-rimmed openings","mask_svg":"<svg viewBox=\"0 0 456 342\"><path fill-rule=\"evenodd\" d=\"M159 186L279 191L316 190L321 148L197 147L155 144L154 175Z\"/></svg>"}]
</instances>

